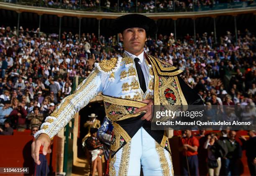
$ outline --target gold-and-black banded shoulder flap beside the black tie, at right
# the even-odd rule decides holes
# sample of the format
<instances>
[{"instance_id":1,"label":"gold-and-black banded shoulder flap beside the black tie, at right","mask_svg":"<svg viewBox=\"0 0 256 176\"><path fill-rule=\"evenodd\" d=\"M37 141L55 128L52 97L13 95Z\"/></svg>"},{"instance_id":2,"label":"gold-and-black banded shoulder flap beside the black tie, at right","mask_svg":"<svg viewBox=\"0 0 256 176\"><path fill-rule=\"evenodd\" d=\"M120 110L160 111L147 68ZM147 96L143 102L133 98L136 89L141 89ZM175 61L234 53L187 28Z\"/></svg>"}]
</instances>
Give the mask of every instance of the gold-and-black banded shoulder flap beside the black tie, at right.
<instances>
[{"instance_id":1,"label":"gold-and-black banded shoulder flap beside the black tie, at right","mask_svg":"<svg viewBox=\"0 0 256 176\"><path fill-rule=\"evenodd\" d=\"M162 76L176 76L183 71L171 64L167 64L154 56L148 55L148 59L156 66L157 73Z\"/></svg>"}]
</instances>

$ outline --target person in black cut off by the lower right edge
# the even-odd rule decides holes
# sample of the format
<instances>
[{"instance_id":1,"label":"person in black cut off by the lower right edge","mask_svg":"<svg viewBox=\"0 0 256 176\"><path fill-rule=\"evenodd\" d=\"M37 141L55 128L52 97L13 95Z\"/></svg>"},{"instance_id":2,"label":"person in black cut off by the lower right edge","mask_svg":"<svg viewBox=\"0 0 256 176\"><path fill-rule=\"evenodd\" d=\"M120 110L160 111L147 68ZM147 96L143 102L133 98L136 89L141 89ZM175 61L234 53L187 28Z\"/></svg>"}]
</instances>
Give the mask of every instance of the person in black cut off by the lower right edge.
<instances>
[{"instance_id":1,"label":"person in black cut off by the lower right edge","mask_svg":"<svg viewBox=\"0 0 256 176\"><path fill-rule=\"evenodd\" d=\"M246 150L246 157L248 168L250 170L251 176L256 175L256 135L255 130L248 130L249 139L247 140L245 136L241 136L240 140L242 141L243 150Z\"/></svg>"}]
</instances>

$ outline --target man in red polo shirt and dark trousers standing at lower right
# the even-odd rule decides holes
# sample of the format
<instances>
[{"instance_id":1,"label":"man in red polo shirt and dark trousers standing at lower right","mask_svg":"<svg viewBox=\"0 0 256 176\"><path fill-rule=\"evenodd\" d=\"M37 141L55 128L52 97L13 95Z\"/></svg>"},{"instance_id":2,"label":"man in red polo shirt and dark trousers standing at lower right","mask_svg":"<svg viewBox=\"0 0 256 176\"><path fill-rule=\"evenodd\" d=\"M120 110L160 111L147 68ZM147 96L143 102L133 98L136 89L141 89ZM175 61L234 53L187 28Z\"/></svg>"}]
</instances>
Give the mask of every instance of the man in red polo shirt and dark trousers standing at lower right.
<instances>
[{"instance_id":1,"label":"man in red polo shirt and dark trousers standing at lower right","mask_svg":"<svg viewBox=\"0 0 256 176\"><path fill-rule=\"evenodd\" d=\"M197 148L199 141L192 135L192 130L185 130L185 135L182 138L182 146L179 151L182 151L182 171L183 175L199 176Z\"/></svg>"}]
</instances>

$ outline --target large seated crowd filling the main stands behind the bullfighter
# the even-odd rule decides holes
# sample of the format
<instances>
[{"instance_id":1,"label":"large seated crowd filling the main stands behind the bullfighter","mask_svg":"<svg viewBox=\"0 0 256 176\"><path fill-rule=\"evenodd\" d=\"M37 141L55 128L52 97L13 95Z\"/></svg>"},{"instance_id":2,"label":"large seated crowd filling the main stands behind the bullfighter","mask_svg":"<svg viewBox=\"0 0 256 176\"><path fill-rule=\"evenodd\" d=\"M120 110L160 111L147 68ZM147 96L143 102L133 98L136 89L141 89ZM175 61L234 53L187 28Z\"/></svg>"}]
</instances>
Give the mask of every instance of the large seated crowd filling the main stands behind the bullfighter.
<instances>
[{"instance_id":1,"label":"large seated crowd filling the main stands behind the bullfighter","mask_svg":"<svg viewBox=\"0 0 256 176\"><path fill-rule=\"evenodd\" d=\"M123 53L116 36L97 38L94 33L64 32L58 36L38 30L0 28L0 123L10 120L14 129L40 126L61 99L72 91L74 77L86 78L95 62ZM213 33L194 38L187 34L175 41L173 33L148 36L144 51L182 69L183 79L195 89L206 105L248 105L256 102L256 38L247 29L238 40L227 31L214 41ZM217 44L215 44L217 42ZM254 121L255 110L244 112ZM248 110L249 111L249 110ZM237 119L232 115L220 116ZM215 116L214 116L215 117ZM229 119L229 120L230 120Z\"/></svg>"}]
</instances>

